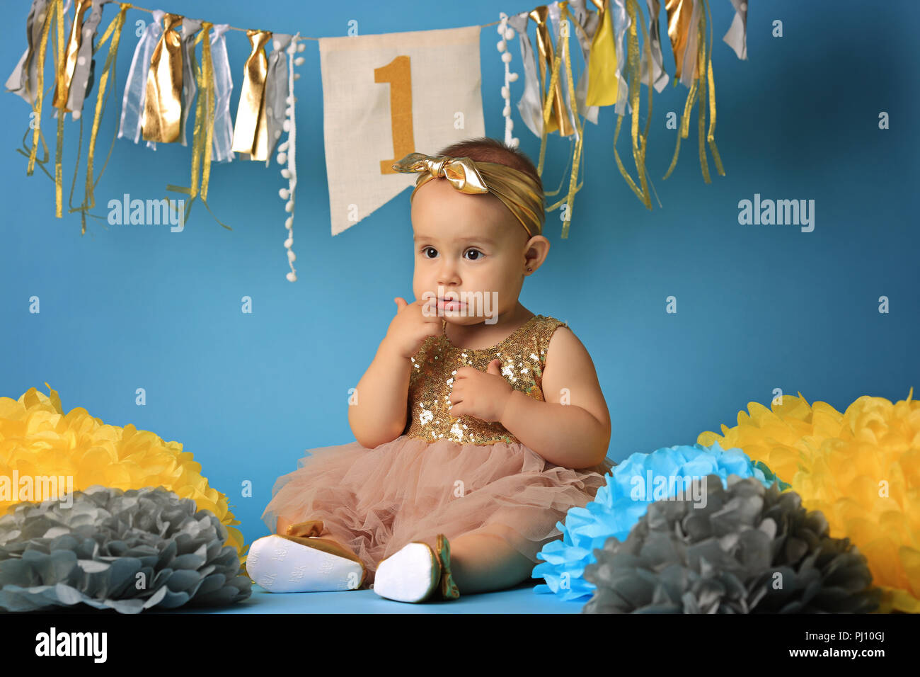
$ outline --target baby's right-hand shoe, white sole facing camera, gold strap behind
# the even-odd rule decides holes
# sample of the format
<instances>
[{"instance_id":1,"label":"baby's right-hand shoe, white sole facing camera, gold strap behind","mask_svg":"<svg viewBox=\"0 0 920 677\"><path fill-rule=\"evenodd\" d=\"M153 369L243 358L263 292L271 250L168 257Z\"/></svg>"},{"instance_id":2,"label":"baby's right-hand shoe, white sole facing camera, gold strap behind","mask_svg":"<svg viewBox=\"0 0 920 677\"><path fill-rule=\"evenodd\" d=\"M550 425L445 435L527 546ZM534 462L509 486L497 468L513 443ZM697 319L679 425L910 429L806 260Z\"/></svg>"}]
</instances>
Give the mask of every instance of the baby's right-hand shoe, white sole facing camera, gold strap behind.
<instances>
[{"instance_id":1,"label":"baby's right-hand shoe, white sole facing camera, gold strap behind","mask_svg":"<svg viewBox=\"0 0 920 677\"><path fill-rule=\"evenodd\" d=\"M377 565L374 592L387 600L455 600L460 591L451 576L450 543L438 534L437 552L428 543L413 541Z\"/></svg>"}]
</instances>

